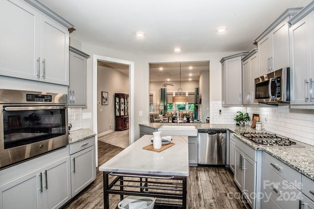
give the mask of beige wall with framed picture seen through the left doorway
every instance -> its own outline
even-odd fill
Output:
[[[98,66],[97,76],[97,128],[98,135],[115,130],[115,93],[129,93],[129,76],[118,70]],[[108,92],[108,105],[102,105],[101,93]],[[110,128],[111,127],[111,128]]]

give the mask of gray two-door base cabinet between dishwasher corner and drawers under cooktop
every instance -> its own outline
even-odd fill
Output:
[[[257,151],[235,138],[234,180],[252,209],[260,205],[259,198],[253,194],[260,191],[259,179],[262,151]]]

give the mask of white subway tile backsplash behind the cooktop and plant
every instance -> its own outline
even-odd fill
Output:
[[[260,114],[262,129],[284,137],[314,145],[314,110],[289,109],[280,107],[222,107],[221,101],[210,102],[212,124],[235,124],[237,111]],[[221,110],[221,115],[219,114]],[[247,125],[251,125],[247,122]]]

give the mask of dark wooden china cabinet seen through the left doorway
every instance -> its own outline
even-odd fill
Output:
[[[115,93],[116,131],[129,129],[129,94]]]

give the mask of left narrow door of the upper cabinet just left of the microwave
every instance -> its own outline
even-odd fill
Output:
[[[248,105],[250,101],[251,92],[251,68],[250,60],[243,62],[243,105]]]

